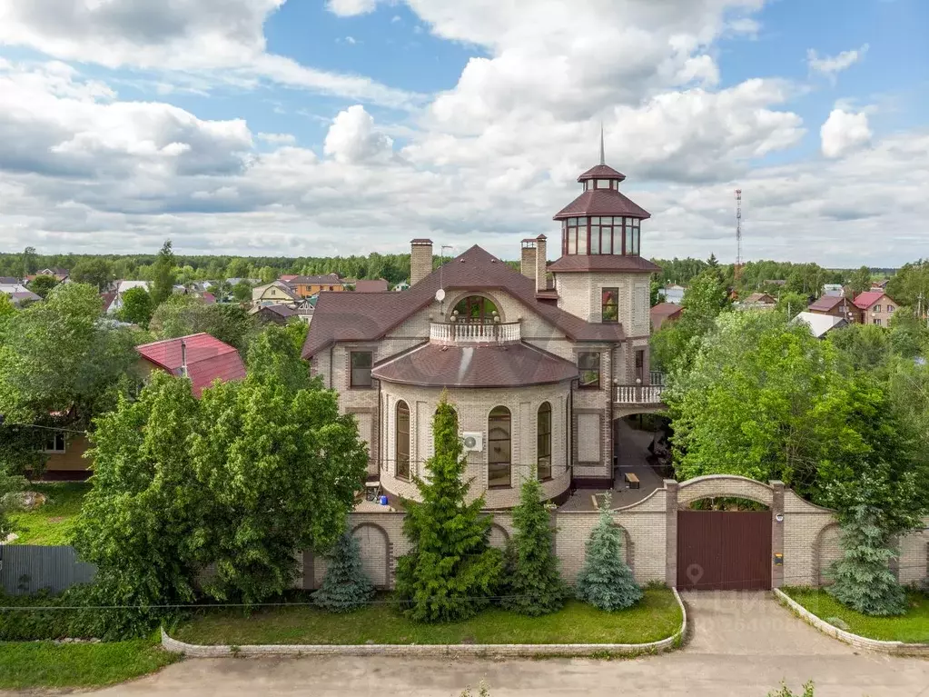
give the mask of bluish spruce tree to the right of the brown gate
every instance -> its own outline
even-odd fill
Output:
[[[862,614],[907,612],[906,591],[890,570],[896,554],[870,506],[855,506],[844,514],[842,547],[842,559],[831,567],[835,583],[826,589],[832,598]]]

